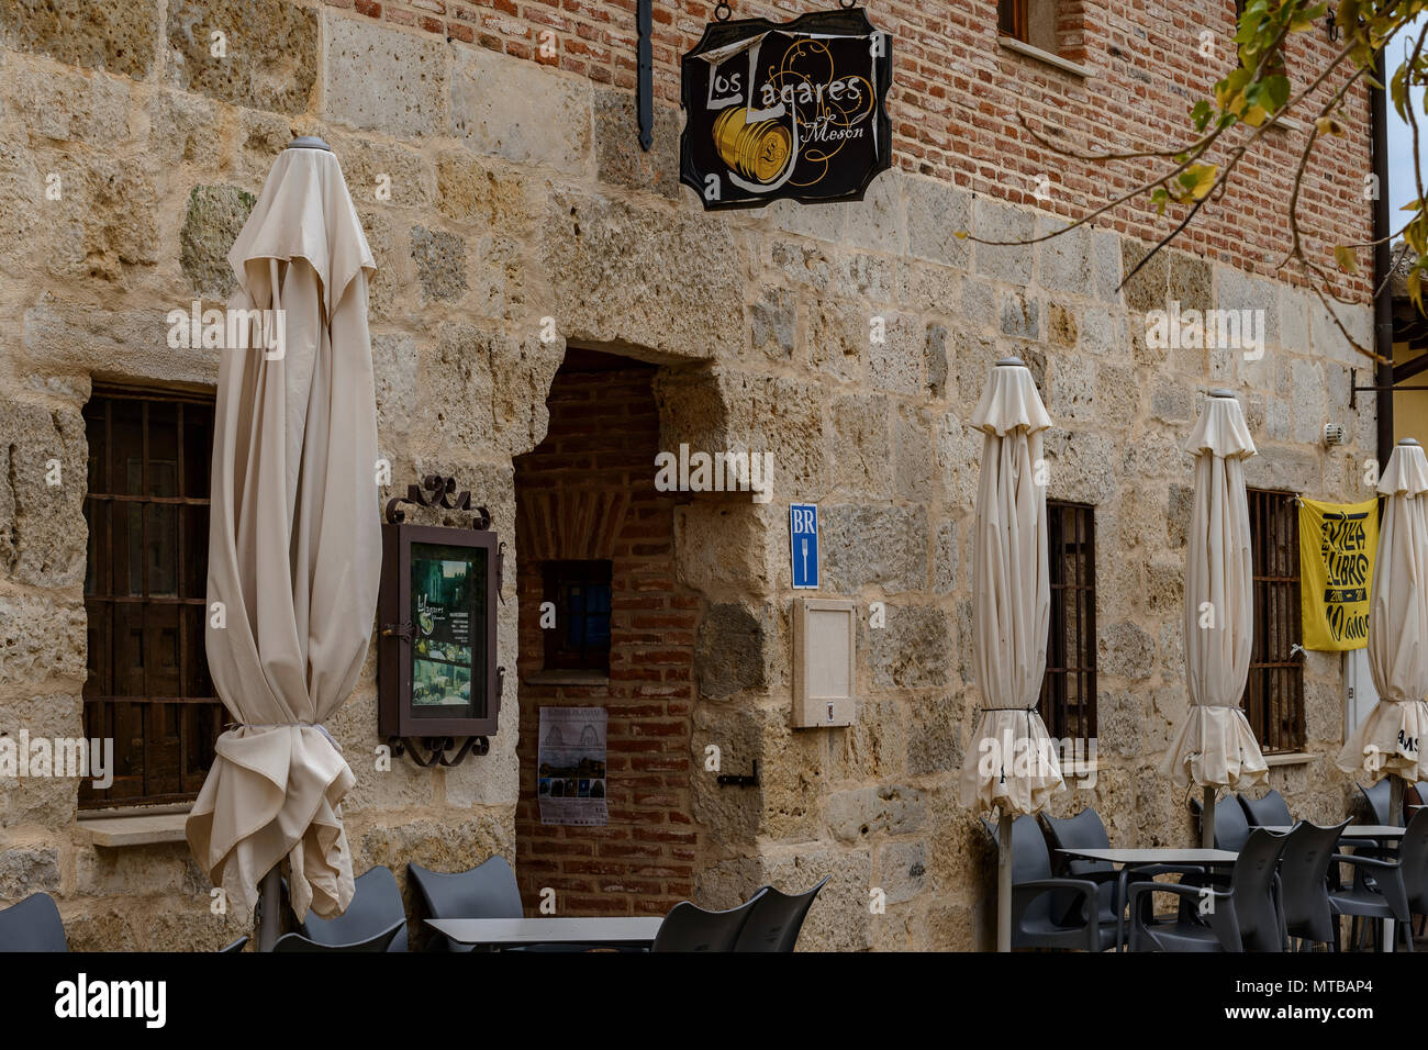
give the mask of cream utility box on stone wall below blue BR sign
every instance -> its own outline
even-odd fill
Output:
[[[794,726],[851,726],[857,719],[857,603],[794,599]]]

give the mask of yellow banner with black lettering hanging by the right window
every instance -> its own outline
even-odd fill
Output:
[[[1299,501],[1299,591],[1305,649],[1368,644],[1368,590],[1378,550],[1378,500]]]

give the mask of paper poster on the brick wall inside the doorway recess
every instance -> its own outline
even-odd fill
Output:
[[[541,707],[536,790],[543,824],[608,824],[604,707]]]

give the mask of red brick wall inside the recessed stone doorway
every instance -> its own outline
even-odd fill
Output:
[[[536,914],[661,914],[694,891],[690,717],[698,600],[674,580],[674,500],[654,489],[660,424],[653,369],[571,371],[550,393],[550,430],[516,460],[520,593],[520,803],[516,871]],[[541,561],[610,559],[608,686],[553,686],[540,671]],[[536,801],[543,706],[605,707],[608,827],[544,826]]]

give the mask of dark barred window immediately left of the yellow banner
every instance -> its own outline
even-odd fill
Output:
[[[1250,489],[1254,647],[1241,703],[1265,754],[1304,750],[1299,510],[1295,493]]]

